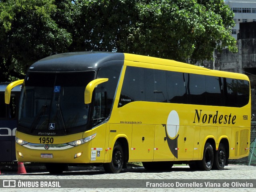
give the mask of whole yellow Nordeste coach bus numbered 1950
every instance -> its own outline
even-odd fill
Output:
[[[19,162],[50,173],[75,164],[127,162],[146,169],[188,164],[222,170],[249,154],[250,82],[246,75],[135,54],[73,52],[30,66],[16,131]]]

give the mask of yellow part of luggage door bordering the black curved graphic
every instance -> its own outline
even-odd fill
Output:
[[[168,146],[165,127],[163,125],[156,125],[155,130],[154,161],[173,161],[174,155]]]

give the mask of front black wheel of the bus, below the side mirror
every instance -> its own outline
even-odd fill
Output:
[[[119,142],[114,144],[112,160],[110,163],[104,163],[103,168],[107,173],[120,173],[124,166],[124,152]]]

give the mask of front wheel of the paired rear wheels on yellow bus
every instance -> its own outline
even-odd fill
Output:
[[[212,145],[210,143],[206,143],[204,146],[204,156],[203,159],[198,162],[198,167],[204,171],[210,171],[212,168],[214,160],[214,152],[212,149]]]

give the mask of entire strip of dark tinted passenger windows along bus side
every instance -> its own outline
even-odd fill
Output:
[[[242,107],[249,94],[246,80],[127,66],[118,107],[133,101]]]

